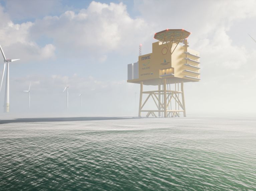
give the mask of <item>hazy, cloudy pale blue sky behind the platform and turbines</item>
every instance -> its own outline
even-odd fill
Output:
[[[10,63],[10,111],[65,113],[67,78],[69,113],[137,116],[140,85],[126,82],[127,64],[138,61],[139,44],[151,53],[154,34],[168,28],[191,32],[190,48],[201,56],[200,82],[184,84],[187,114],[254,115],[255,7],[255,0],[0,0],[0,45],[20,59]]]

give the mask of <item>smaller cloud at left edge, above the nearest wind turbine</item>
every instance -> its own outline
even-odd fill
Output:
[[[27,61],[37,61],[53,58],[55,55],[55,46],[47,44],[40,47],[33,41],[30,28],[34,25],[32,22],[14,24],[7,13],[0,7],[0,43],[7,58],[21,59],[19,63]]]

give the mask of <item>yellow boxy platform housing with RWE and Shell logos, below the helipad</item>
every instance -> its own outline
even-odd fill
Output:
[[[171,42],[168,43],[168,46],[162,42],[153,43],[152,53],[139,56],[139,78],[127,80],[127,82],[140,83],[146,80],[149,84],[151,83],[149,80],[153,80],[152,85],[157,85],[163,78],[167,78],[168,83],[200,80],[199,52],[187,48],[181,43],[177,47],[176,45],[172,45]],[[168,47],[172,51],[176,47],[172,55]],[[163,81],[161,80],[161,82]]]

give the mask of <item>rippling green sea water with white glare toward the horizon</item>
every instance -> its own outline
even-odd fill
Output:
[[[256,118],[0,125],[0,190],[256,190]]]

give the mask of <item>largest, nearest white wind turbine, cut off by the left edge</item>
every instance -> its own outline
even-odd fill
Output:
[[[5,55],[4,55],[4,51],[0,45],[0,49],[1,52],[3,54],[4,57],[4,69],[3,69],[3,76],[2,76],[2,81],[1,81],[1,86],[0,86],[0,91],[2,89],[2,84],[3,84],[3,79],[4,79],[4,71],[5,71],[5,65],[7,63],[7,70],[6,70],[6,84],[5,84],[5,95],[4,95],[4,112],[8,113],[9,112],[9,106],[10,106],[10,102],[9,102],[9,62],[13,62],[19,59],[6,59]]]

